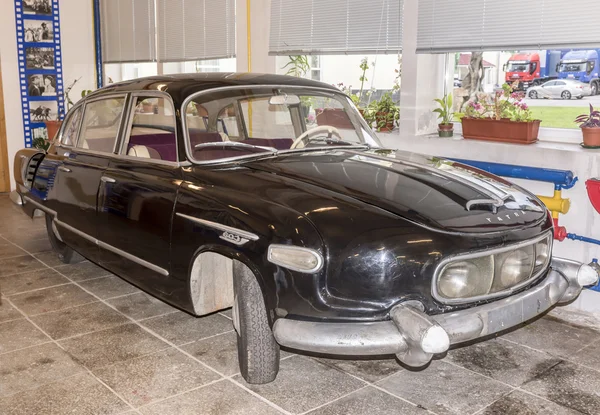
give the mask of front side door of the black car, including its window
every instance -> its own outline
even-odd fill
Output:
[[[131,102],[119,154],[98,192],[100,263],[160,296],[182,177],[175,112],[166,94],[134,93]]]

